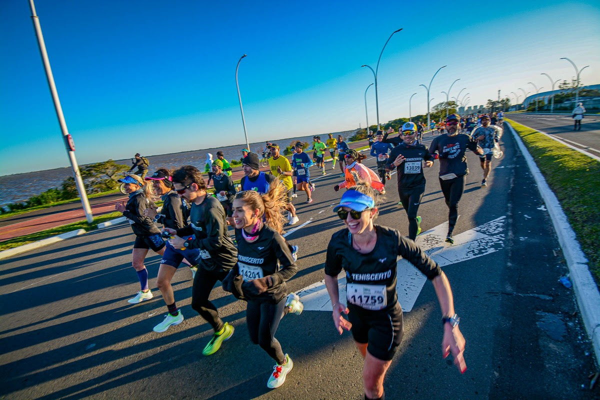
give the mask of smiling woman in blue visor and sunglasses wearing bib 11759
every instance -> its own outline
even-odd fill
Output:
[[[368,184],[360,183],[344,193],[334,212],[346,227],[331,236],[325,261],[325,285],[335,330],[340,335],[344,330],[352,332],[364,358],[365,399],[385,398],[383,380],[404,334],[396,292],[398,256],[412,263],[433,284],[442,309],[442,357],[452,353],[458,370],[464,373],[467,369],[465,341],[448,278],[412,240],[398,230],[374,223],[378,203],[377,194]],[[346,299],[340,299],[338,288],[342,270],[346,273]]]

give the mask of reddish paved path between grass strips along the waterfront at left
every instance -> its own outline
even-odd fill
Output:
[[[358,142],[349,143],[349,147],[351,149],[360,148],[365,145],[367,145],[367,140],[359,140]],[[313,151],[309,150],[308,154],[312,156]],[[329,153],[326,152],[325,155],[328,156]],[[289,156],[287,157],[289,158]],[[269,171],[268,167],[261,168],[260,170],[264,172]],[[232,172],[233,175],[231,178],[233,179],[233,181],[239,181],[239,179],[241,179],[242,176],[244,176],[244,170],[242,170],[241,166],[235,167]],[[79,200],[76,200],[74,201],[74,203],[77,203],[78,201]],[[92,205],[92,214],[94,216],[98,216],[113,212],[115,211],[115,204],[119,201],[127,201],[127,196],[123,195],[118,199],[113,199],[110,201]],[[78,222],[85,219],[85,213],[83,212],[83,209],[80,209],[79,207],[77,209],[71,209],[66,211],[57,210],[56,212],[52,211],[53,208],[55,207],[48,207],[47,209],[44,209],[44,216],[40,216],[37,218],[27,218],[26,213],[22,214],[23,218],[20,219],[25,219],[25,221],[15,222],[14,224],[8,224],[1,228],[0,242],[8,239],[14,239],[15,237],[19,236],[25,236],[27,234],[37,233],[46,229],[72,224],[73,222]]]

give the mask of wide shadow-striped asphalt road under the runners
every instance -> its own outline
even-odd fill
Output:
[[[420,236],[418,243],[445,265],[467,340],[467,371],[460,375],[441,357],[440,311],[431,284],[425,282],[422,290],[406,287],[402,298],[415,288],[418,297],[412,305],[403,300],[405,336],[385,381],[388,398],[600,395],[598,387],[581,389],[595,365],[572,290],[557,282],[567,267],[548,214],[511,135],[502,140],[505,158],[494,163],[487,188],[479,187],[478,160],[469,155],[471,173],[455,230],[465,234],[454,248],[431,247],[447,215],[437,166],[427,170],[420,212],[422,237],[431,240]],[[310,222],[287,236],[300,246],[299,272],[289,282],[294,291],[323,279],[326,245],[343,225],[331,212],[341,196],[332,190],[341,181],[338,170],[319,179],[313,171],[314,202],[302,203],[304,195],[296,199],[301,224]],[[397,201],[389,185],[377,221],[406,234],[406,215]],[[185,321],[167,332],[152,332],[166,307],[156,289],[149,302],[127,303],[139,287],[130,266],[131,246],[130,228],[118,225],[2,261],[0,395],[362,399],[361,357],[348,333],[334,332],[329,311],[307,310],[281,322],[277,338],[295,367],[276,390],[266,389],[273,362],[248,338],[244,303],[220,287],[212,299],[236,331],[214,356],[202,356],[211,331],[190,307],[191,274],[185,268],[173,280]],[[153,285],[160,258],[147,261]]]

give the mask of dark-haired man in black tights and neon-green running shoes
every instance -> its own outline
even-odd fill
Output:
[[[248,158],[248,157],[246,157]],[[173,173],[173,189],[191,204],[190,225],[178,230],[164,228],[173,235],[169,242],[176,249],[199,249],[200,264],[191,295],[191,307],[211,324],[214,334],[202,354],[214,354],[233,335],[233,326],[224,323],[217,307],[209,301],[212,288],[223,281],[238,260],[238,250],[227,234],[225,211],[219,201],[206,193],[202,173],[184,166]]]

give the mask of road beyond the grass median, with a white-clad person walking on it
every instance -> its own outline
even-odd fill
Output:
[[[570,115],[508,114],[508,118],[535,130],[559,137],[567,143],[600,156],[600,115],[586,115],[581,131],[573,130]]]

